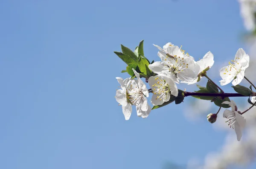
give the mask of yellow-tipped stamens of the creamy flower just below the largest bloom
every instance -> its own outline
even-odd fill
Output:
[[[162,100],[163,98],[167,99],[167,95],[168,92],[170,92],[169,89],[169,84],[166,83],[166,81],[164,79],[159,79],[158,77],[155,78],[156,83],[154,85],[152,85],[152,87],[155,87],[153,89],[153,94],[156,95],[158,94],[159,96],[157,96],[157,99]]]

